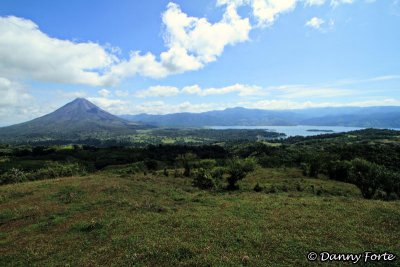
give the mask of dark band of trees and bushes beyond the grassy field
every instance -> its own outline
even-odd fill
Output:
[[[362,139],[360,134],[368,138]],[[365,198],[392,200],[400,197],[400,143],[393,141],[397,138],[395,134],[398,132],[366,130],[297,141],[280,140],[280,143],[242,141],[224,146],[3,145],[0,146],[0,183],[84,175],[125,166],[119,170],[121,173],[164,171],[170,175],[172,171],[177,176],[192,177],[197,186],[204,188],[218,187],[224,177],[230,179],[224,181],[232,189],[252,169],[250,166],[257,164],[263,168],[299,168],[305,176],[352,183]],[[394,139],[375,142],[388,137]],[[360,138],[359,142],[347,141]]]

